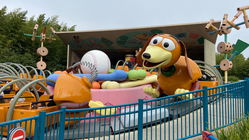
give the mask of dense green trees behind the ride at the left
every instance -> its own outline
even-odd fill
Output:
[[[3,7],[0,9],[0,62],[15,62],[36,67],[36,62],[40,60],[36,54],[40,40],[37,38],[31,41],[31,37],[24,36],[24,33],[32,34],[35,24],[39,25],[38,35],[46,26],[48,37],[52,35],[50,27],[56,31],[74,31],[75,28],[59,23],[58,16],[46,18],[45,14],[40,14],[37,18],[28,18],[27,11],[16,9],[7,12],[7,7]],[[65,69],[67,60],[66,46],[58,37],[55,38],[56,40],[46,41],[44,44],[49,54],[43,60],[47,63],[47,69],[51,71]]]

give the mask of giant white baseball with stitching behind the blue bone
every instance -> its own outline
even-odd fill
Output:
[[[90,63],[97,69],[97,73],[108,73],[111,68],[111,61],[109,57],[100,50],[91,50],[84,54],[81,58],[81,63]],[[89,65],[81,65],[83,73],[91,73]]]

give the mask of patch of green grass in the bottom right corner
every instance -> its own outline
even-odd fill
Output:
[[[249,118],[215,131],[219,140],[249,140]]]

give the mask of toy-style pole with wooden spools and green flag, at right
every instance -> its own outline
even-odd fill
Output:
[[[246,10],[249,9],[249,6],[243,6],[237,8],[237,13],[234,15],[232,20],[228,20],[228,14],[224,14],[223,20],[219,28],[215,27],[212,23],[214,19],[211,19],[206,25],[206,30],[210,31],[210,34],[218,33],[219,35],[224,35],[224,42],[220,42],[217,45],[217,51],[221,54],[225,54],[225,58],[220,62],[219,65],[215,65],[215,67],[220,67],[222,71],[224,71],[224,83],[228,83],[228,71],[232,69],[233,63],[232,60],[235,56],[242,53],[249,44],[238,39],[236,44],[232,45],[228,42],[227,36],[231,33],[232,28],[239,30],[241,25],[245,24],[246,28],[249,28],[249,19],[246,13]],[[235,24],[235,20],[237,20],[243,14],[243,22]],[[231,56],[228,58],[228,54]]]

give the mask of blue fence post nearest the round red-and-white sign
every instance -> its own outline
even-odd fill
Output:
[[[46,112],[40,111],[39,119],[38,119],[38,139],[44,140],[44,133],[45,133],[45,120],[46,120]]]

